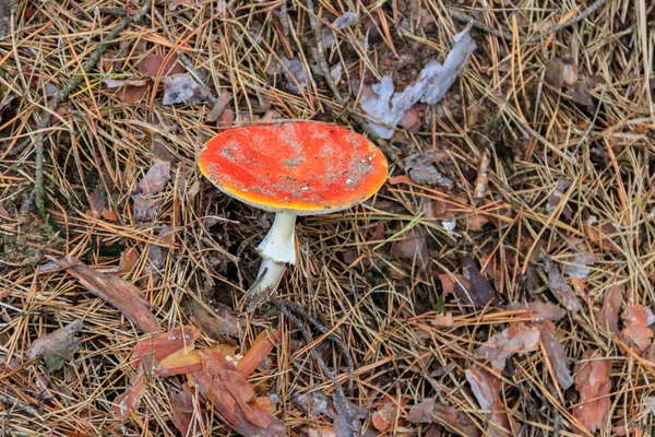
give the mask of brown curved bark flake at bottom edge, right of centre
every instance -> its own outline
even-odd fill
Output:
[[[480,429],[475,426],[471,417],[461,411],[437,402],[433,399],[427,399],[409,409],[407,421],[412,423],[434,423],[443,426],[451,433],[461,436],[479,437]]]

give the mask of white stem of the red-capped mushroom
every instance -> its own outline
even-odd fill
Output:
[[[258,248],[262,256],[262,264],[257,281],[248,292],[250,300],[257,300],[273,292],[287,263],[296,263],[296,215],[288,213],[275,214],[273,226]]]

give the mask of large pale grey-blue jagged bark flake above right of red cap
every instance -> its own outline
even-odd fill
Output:
[[[453,39],[455,44],[443,66],[436,59],[430,60],[421,70],[416,82],[403,92],[396,92],[393,80],[384,76],[380,83],[373,84],[371,95],[362,95],[360,99],[362,109],[390,127],[369,121],[371,129],[380,138],[393,137],[393,128],[401,122],[405,113],[414,104],[420,101],[428,105],[434,105],[450,90],[476,47],[473,38],[468,35],[468,29],[458,33]]]

